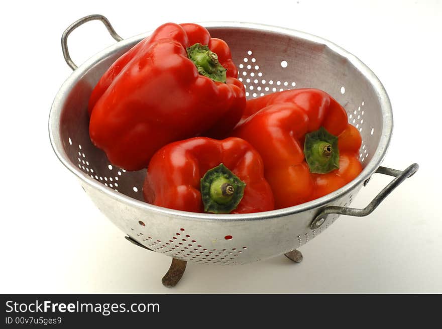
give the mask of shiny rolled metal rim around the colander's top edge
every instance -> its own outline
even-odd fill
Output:
[[[63,144],[61,142],[60,125],[59,125],[61,117],[61,109],[63,108],[62,105],[64,104],[67,96],[69,95],[69,91],[72,89],[72,86],[74,86],[76,82],[78,82],[78,80],[80,80],[81,77],[97,62],[102,60],[102,58],[114,54],[115,52],[119,51],[122,48],[128,47],[131,44],[135,44],[138,41],[141,41],[143,38],[147,37],[153,32],[149,31],[143,34],[139,34],[124,39],[120,42],[117,42],[112,46],[104,48],[103,50],[99,51],[98,53],[90,57],[84,63],[79,65],[78,68],[75,69],[70,74],[70,76],[61,85],[60,89],[58,90],[53,100],[49,114],[49,127],[48,127],[51,146],[56,156],[63,163],[63,165],[67,169],[69,169],[73,174],[75,174],[81,181],[94,187],[95,189],[104,193],[108,197],[111,197],[123,203],[128,203],[132,206],[141,208],[143,210],[155,212],[161,215],[186,218],[188,220],[196,220],[196,221],[239,222],[239,221],[266,220],[269,218],[283,217],[316,208],[319,211],[321,207],[329,204],[330,202],[333,202],[336,199],[339,199],[344,194],[348,193],[350,190],[355,189],[357,186],[362,184],[376,171],[376,169],[382,163],[382,160],[384,159],[386,151],[390,144],[391,134],[393,130],[393,115],[392,115],[391,103],[384,86],[382,85],[379,78],[374,74],[374,72],[367,65],[365,65],[359,58],[357,58],[352,53],[348,52],[344,48],[338,46],[337,44],[329,40],[326,40],[324,38],[306,32],[288,29],[284,27],[258,24],[258,23],[249,23],[249,22],[198,22],[198,24],[209,29],[242,28],[242,29],[258,30],[260,32],[286,34],[292,37],[302,38],[310,42],[322,44],[323,46],[328,47],[330,50],[334,51],[335,53],[338,53],[340,56],[345,57],[355,68],[357,68],[368,79],[373,89],[377,93],[381,104],[381,112],[383,116],[382,131],[381,131],[379,144],[376,148],[376,151],[374,152],[372,159],[367,163],[363,171],[354,180],[352,180],[350,183],[343,186],[342,188],[332,193],[329,193],[323,197],[299,205],[295,205],[292,207],[263,211],[263,212],[246,213],[246,214],[196,213],[196,212],[164,208],[134,199],[130,196],[117,192],[114,189],[99,183],[95,179],[91,178],[89,175],[79,170],[76,166],[74,166],[72,162],[69,160],[66,152],[64,151]]]

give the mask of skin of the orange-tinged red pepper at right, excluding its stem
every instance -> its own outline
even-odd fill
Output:
[[[294,89],[251,99],[246,115],[232,135],[247,140],[261,154],[276,208],[324,196],[362,171],[361,135],[348,123],[345,109],[324,91]],[[339,169],[312,173],[304,156],[305,139],[321,127],[338,137]]]

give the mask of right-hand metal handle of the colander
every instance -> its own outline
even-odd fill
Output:
[[[386,168],[386,167],[379,167],[375,173],[394,176],[396,178],[393,179],[387,186],[385,186],[384,189],[380,191],[379,194],[376,195],[374,199],[365,208],[356,209],[356,208],[348,208],[340,206],[325,207],[311,222],[310,229],[315,230],[319,228],[325,222],[325,218],[329,214],[350,215],[358,217],[370,214],[387,197],[388,194],[390,194],[396,187],[399,186],[399,184],[401,184],[408,177],[414,175],[417,169],[419,169],[419,165],[417,163],[413,163],[404,171]]]

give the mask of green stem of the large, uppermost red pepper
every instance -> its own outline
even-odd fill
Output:
[[[198,72],[213,81],[226,82],[226,71],[218,61],[218,55],[210,51],[208,46],[195,43],[187,50],[187,56],[198,68]]]

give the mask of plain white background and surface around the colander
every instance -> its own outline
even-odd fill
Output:
[[[442,292],[440,1],[152,3],[2,7],[0,293]],[[61,34],[90,14],[106,16],[123,38],[165,22],[246,21],[333,41],[367,64],[390,96],[394,133],[383,165],[417,162],[420,170],[371,215],[341,216],[301,247],[300,264],[284,256],[244,266],[188,264],[180,283],[165,288],[170,259],[128,243],[49,142],[49,109],[71,73]],[[114,42],[90,22],[72,33],[69,49],[80,64]],[[364,207],[390,179],[375,175],[352,205]]]

